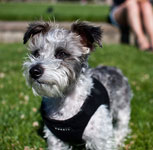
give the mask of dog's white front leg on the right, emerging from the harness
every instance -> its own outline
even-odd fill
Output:
[[[116,150],[112,118],[104,105],[100,106],[90,119],[83,139],[86,141],[86,149]]]

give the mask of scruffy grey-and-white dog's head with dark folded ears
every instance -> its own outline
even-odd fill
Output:
[[[95,43],[100,45],[101,30],[83,22],[74,23],[71,30],[32,23],[24,44],[28,40],[30,54],[23,65],[28,83],[38,95],[62,97],[73,89]]]

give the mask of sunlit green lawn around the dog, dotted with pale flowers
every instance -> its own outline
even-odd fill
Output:
[[[0,44],[0,150],[45,149],[40,97],[25,84],[21,44]],[[111,65],[128,77],[134,97],[131,104],[131,137],[128,150],[153,149],[153,54],[132,46],[104,45],[90,57],[90,65]],[[127,149],[126,149],[127,150]]]

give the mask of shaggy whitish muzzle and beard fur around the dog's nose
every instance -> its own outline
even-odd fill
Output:
[[[35,80],[29,75],[32,64],[29,62],[24,64],[24,75],[28,85],[32,86],[34,94],[46,97],[63,97],[76,80],[73,69],[70,66],[67,68],[63,65],[53,67],[53,64],[49,63],[41,65],[45,71],[39,79]]]

